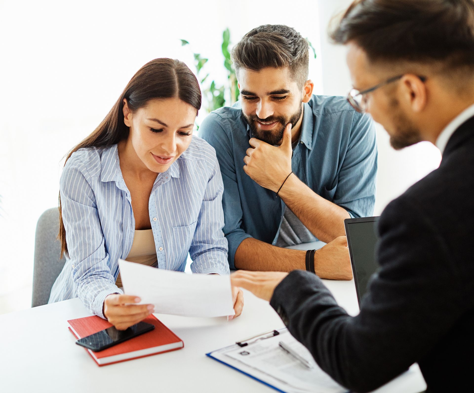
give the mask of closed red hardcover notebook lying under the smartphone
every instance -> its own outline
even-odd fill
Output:
[[[112,326],[105,319],[97,315],[72,319],[67,322],[70,325],[69,330],[77,339],[100,332]],[[99,366],[105,366],[107,364],[143,358],[145,356],[156,355],[184,347],[182,340],[164,326],[163,323],[158,321],[155,315],[146,317],[143,322],[155,325],[155,329],[99,352],[94,352],[87,348],[84,349],[89,352],[89,355],[91,355]]]

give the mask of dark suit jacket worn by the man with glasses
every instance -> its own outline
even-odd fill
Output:
[[[347,315],[305,271],[290,273],[270,304],[353,391],[415,362],[428,392],[474,391],[474,117],[451,136],[439,168],[386,207],[378,230],[380,269],[360,314]]]

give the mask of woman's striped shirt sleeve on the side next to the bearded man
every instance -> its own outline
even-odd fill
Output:
[[[219,163],[215,158],[189,250],[193,261],[191,263],[193,273],[230,273],[227,261],[228,244],[222,232],[224,227],[223,191]]]

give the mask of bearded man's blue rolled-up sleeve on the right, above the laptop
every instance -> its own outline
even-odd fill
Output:
[[[353,112],[349,145],[337,181],[334,203],[352,218],[374,212],[377,176],[377,140],[369,116]]]

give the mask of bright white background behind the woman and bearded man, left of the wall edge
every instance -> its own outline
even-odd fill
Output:
[[[57,206],[63,157],[132,75],[156,57],[194,70],[192,49],[209,57],[209,71],[224,83],[226,27],[236,43],[255,26],[286,24],[319,53],[317,3],[298,4],[304,19],[282,0],[0,1],[0,313],[30,306],[36,221]],[[311,61],[319,93],[320,67]]]

